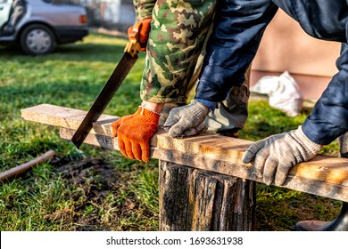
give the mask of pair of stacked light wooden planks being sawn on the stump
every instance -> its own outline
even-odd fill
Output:
[[[61,127],[61,137],[70,140],[87,111],[42,104],[21,110],[29,121]],[[111,137],[110,124],[118,116],[103,115],[95,122],[85,143],[118,149]],[[232,175],[262,182],[253,173],[252,164],[243,164],[242,157],[251,141],[205,133],[185,139],[172,139],[160,130],[151,141],[152,157],[197,169]],[[348,159],[317,156],[296,165],[288,174],[284,186],[322,197],[348,202]]]

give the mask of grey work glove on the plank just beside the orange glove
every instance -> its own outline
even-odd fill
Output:
[[[197,100],[191,100],[189,105],[173,108],[163,128],[170,137],[192,136],[206,131],[205,117],[211,110]]]

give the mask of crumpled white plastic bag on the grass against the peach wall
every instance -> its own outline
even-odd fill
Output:
[[[286,71],[280,76],[263,76],[250,88],[251,92],[267,94],[269,106],[278,108],[287,116],[297,116],[302,109],[302,92],[294,78]]]

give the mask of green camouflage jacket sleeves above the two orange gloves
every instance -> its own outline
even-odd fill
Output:
[[[134,1],[138,20],[153,18],[140,97],[157,103],[184,103],[216,1]]]

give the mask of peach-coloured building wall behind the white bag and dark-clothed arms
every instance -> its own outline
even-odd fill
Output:
[[[341,44],[308,36],[299,24],[279,10],[262,38],[253,60],[251,84],[266,75],[289,71],[304,98],[318,100],[337,72]]]

